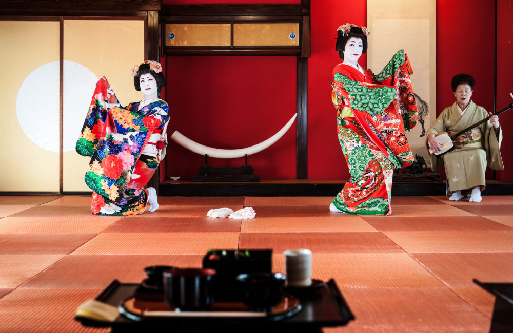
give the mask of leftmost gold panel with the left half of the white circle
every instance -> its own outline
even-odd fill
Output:
[[[0,191],[59,190],[59,23],[0,22]]]

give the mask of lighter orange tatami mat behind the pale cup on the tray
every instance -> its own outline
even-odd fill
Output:
[[[273,272],[285,274],[284,255],[275,253],[272,260]],[[407,253],[313,253],[312,278],[333,278],[339,287],[348,288],[445,286]]]

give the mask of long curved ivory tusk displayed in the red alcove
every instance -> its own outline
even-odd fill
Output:
[[[195,142],[179,131],[174,131],[173,135],[171,135],[171,139],[174,140],[176,143],[180,144],[182,147],[187,148],[188,150],[200,154],[200,155],[208,155],[208,157],[215,157],[215,158],[238,158],[238,157],[244,157],[244,155],[253,155],[258,152],[263,151],[264,149],[270,147],[272,144],[274,144],[276,141],[278,141],[292,126],[292,123],[294,122],[295,118],[298,116],[298,114],[294,114],[292,118],[285,124],[285,126],[278,131],[276,134],[271,136],[265,141],[262,141],[260,143],[257,143],[255,145],[252,145],[251,147],[241,148],[241,149],[218,149],[218,148],[212,148],[207,147],[206,145],[203,145],[201,143]]]

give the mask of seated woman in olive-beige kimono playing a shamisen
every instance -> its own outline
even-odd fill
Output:
[[[426,132],[427,142],[432,152],[441,150],[435,139],[437,134],[447,132],[452,135],[492,114],[470,99],[475,84],[474,78],[468,74],[458,74],[452,78],[451,87],[456,101],[442,111]],[[449,200],[458,201],[462,198],[462,190],[471,190],[469,201],[481,201],[481,191],[486,185],[486,165],[494,170],[504,169],[500,150],[501,141],[502,130],[499,117],[492,115],[480,126],[458,136],[454,140],[456,149],[452,152],[442,157],[435,154],[429,156],[433,171],[439,170],[445,164],[447,183],[452,192]]]

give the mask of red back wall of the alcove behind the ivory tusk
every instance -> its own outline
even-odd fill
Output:
[[[278,132],[296,112],[296,57],[169,56],[168,134],[178,130],[221,149],[249,147]],[[248,157],[264,179],[294,179],[295,123],[268,149]],[[190,179],[205,157],[170,140],[168,176]],[[209,165],[241,166],[238,159],[210,158]]]

